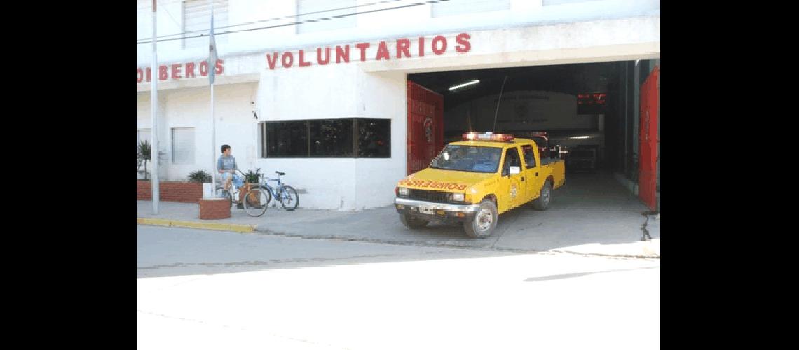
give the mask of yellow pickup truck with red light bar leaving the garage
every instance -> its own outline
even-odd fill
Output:
[[[547,210],[566,183],[562,159],[539,155],[534,140],[468,132],[443,148],[430,166],[400,180],[394,205],[409,229],[428,222],[462,222],[470,238],[487,238],[499,214],[527,203]]]

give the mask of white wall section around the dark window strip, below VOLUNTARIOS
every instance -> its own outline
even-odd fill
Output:
[[[304,82],[297,84],[298,81]],[[390,158],[260,158],[256,167],[300,194],[300,206],[362,210],[392,202],[405,176],[405,81],[403,73],[364,73],[355,65],[266,71],[258,95],[260,120],[390,119]]]

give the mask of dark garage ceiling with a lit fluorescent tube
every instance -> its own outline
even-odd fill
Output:
[[[459,70],[408,75],[409,81],[444,96],[444,109],[499,94],[507,76],[504,92],[552,91],[576,95],[585,92],[608,92],[617,77],[618,62],[580,63],[571,65],[534,65],[526,67]],[[479,84],[449,91],[453,85],[479,80]]]

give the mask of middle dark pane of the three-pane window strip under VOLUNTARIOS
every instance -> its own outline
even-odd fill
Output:
[[[308,120],[312,157],[351,157],[352,119]]]

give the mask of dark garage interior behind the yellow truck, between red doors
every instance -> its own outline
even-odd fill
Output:
[[[517,137],[546,132],[550,145],[559,145],[553,155],[566,159],[570,175],[614,175],[635,192],[640,92],[656,65],[660,60],[538,65],[409,74],[407,79],[443,96],[445,144],[470,131]],[[570,163],[570,156],[594,160]],[[659,195],[659,141],[657,172]]]

